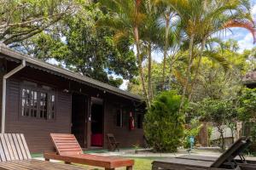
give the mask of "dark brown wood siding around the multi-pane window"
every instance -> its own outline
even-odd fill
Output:
[[[56,92],[55,121],[20,116],[20,82],[7,82],[6,133],[24,133],[32,153],[53,150],[49,133],[70,133],[71,95]]]

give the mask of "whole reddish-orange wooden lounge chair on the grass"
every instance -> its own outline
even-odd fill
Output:
[[[54,159],[66,163],[104,167],[105,170],[113,170],[116,167],[126,167],[127,170],[131,170],[134,165],[134,161],[130,159],[84,154],[73,134],[51,133],[50,137],[55,144],[57,153],[44,153],[45,161]]]

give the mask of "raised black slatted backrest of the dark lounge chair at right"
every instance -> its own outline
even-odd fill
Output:
[[[229,160],[234,160],[236,156],[241,155],[242,152],[246,150],[251,143],[251,139],[248,139],[246,137],[241,137],[240,139],[237,139],[236,142],[232,144],[228,150],[224,151],[224,153],[212,163],[211,167],[221,167],[225,162],[228,162]]]

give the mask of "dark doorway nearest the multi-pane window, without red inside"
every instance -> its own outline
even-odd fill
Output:
[[[72,101],[72,133],[78,139],[81,147],[85,148],[88,100],[85,95],[73,94]]]

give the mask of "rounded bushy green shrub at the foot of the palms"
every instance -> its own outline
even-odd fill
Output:
[[[181,96],[175,91],[159,94],[144,119],[144,133],[156,151],[175,152],[182,144],[184,115],[179,110]]]

